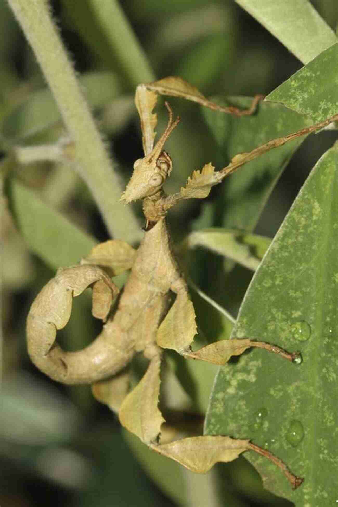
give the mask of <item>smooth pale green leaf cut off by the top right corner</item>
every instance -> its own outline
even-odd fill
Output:
[[[236,0],[303,63],[337,39],[308,0]]]

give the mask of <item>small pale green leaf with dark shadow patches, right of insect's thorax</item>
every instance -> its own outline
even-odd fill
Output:
[[[186,238],[186,242],[191,248],[204,246],[255,271],[271,239],[233,229],[210,227],[192,232]]]

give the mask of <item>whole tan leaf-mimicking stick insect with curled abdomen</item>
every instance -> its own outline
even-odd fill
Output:
[[[187,437],[161,444],[159,435],[164,422],[158,408],[160,366],[166,349],[183,357],[224,365],[234,355],[251,347],[264,348],[290,361],[299,362],[297,352],[289,353],[275,345],[249,338],[221,340],[197,351],[191,349],[196,334],[195,311],[186,281],[171,248],[166,214],[182,199],[207,197],[211,188],[250,160],[298,136],[314,132],[338,115],[312,127],[273,139],[251,152],[236,155],[227,167],[215,171],[211,163],[194,171],[185,187],[166,195],[163,184],[172,171],[172,161],[164,150],[165,142],[179,123],[165,103],[169,120],[155,143],[158,94],[183,97],[206,107],[238,116],[254,112],[257,96],[247,111],[221,107],[207,100],[196,88],[180,78],[166,78],[139,85],[135,103],[140,116],[144,157],[136,160],[131,179],[122,195],[125,203],[142,200],[145,233],[137,250],[120,240],[108,240],[95,246],[78,266],[61,269],[42,289],[27,317],[28,352],[33,363],[52,379],[66,384],[90,383],[94,396],[117,411],[122,425],[136,434],[156,452],[178,461],[197,473],[207,472],[218,461],[232,461],[251,450],[266,456],[285,474],[295,489],[303,479],[266,449],[248,439],[230,436]],[[111,305],[119,293],[111,280],[131,269],[115,312]],[[92,288],[92,313],[104,321],[98,337],[85,349],[62,350],[56,332],[69,320],[72,298]],[[170,292],[176,295],[169,309]],[[140,382],[129,390],[126,367],[137,352],[149,364]]]

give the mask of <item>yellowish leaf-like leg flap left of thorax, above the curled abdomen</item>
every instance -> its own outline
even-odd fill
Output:
[[[125,241],[109,239],[91,249],[81,264],[96,264],[116,276],[133,265],[136,250]]]

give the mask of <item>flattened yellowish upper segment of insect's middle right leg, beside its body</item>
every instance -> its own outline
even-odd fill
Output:
[[[157,331],[156,342],[162,348],[181,352],[192,343],[196,329],[193,303],[186,291],[180,291]]]

